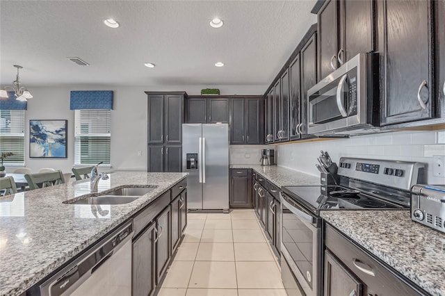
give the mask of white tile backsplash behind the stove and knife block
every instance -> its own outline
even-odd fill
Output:
[[[445,156],[445,131],[398,131],[341,140],[277,145],[278,165],[319,176],[315,164],[318,163],[316,158],[320,150],[328,151],[332,161],[337,164],[340,156],[426,163],[428,183],[445,184],[445,178],[432,176],[432,156]]]

